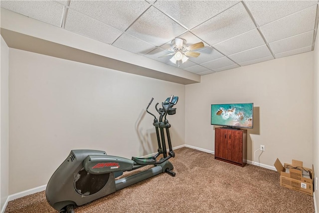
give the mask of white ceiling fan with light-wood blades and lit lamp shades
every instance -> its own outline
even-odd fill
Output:
[[[169,60],[176,64],[178,61],[178,67],[179,67],[179,61],[181,60],[182,63],[188,60],[188,57],[198,57],[200,55],[199,52],[191,52],[192,50],[195,49],[200,49],[204,47],[203,42],[198,42],[191,44],[189,46],[186,46],[186,40],[182,38],[175,38],[174,40],[171,41],[171,47],[169,51],[173,51],[171,53],[168,53],[166,55],[160,56],[161,57],[166,57],[168,55],[173,55]]]

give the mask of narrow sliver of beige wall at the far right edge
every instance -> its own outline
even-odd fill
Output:
[[[316,37],[314,49],[314,142],[313,161],[315,170],[315,198],[317,211],[319,211],[319,193],[316,189],[316,178],[319,177],[319,32]],[[317,183],[318,184],[318,183]]]

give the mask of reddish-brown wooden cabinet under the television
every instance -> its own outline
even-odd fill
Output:
[[[215,159],[238,166],[247,162],[247,130],[215,128]]]

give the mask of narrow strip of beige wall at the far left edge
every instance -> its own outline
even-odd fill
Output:
[[[0,210],[2,210],[9,193],[9,124],[8,124],[8,56],[9,48],[1,36],[1,69],[0,69]]]

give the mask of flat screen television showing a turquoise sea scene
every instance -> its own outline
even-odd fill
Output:
[[[212,104],[211,125],[227,128],[253,128],[254,103]]]

